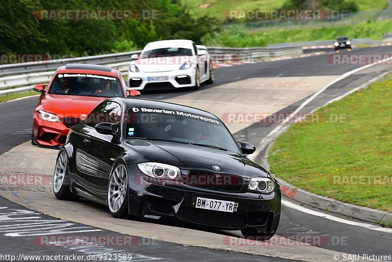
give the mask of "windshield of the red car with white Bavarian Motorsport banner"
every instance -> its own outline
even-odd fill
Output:
[[[58,74],[49,94],[98,97],[124,97],[120,80],[93,74]]]

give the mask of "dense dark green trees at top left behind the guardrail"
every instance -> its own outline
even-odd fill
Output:
[[[38,10],[158,10],[158,19],[37,20]],[[218,23],[192,18],[179,0],[1,0],[0,53],[92,55],[143,48],[150,41],[192,39]]]

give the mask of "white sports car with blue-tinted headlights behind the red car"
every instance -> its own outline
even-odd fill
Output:
[[[205,46],[191,40],[164,40],[148,43],[128,69],[129,87],[136,90],[179,87],[199,88],[213,83],[214,69]]]

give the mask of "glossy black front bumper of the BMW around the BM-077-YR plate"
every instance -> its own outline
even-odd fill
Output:
[[[281,194],[279,186],[269,195],[233,193],[198,188],[178,183],[164,185],[151,180],[128,165],[129,214],[149,218],[172,217],[182,221],[224,230],[255,228],[261,233],[274,232],[279,218]],[[135,175],[136,174],[136,175]],[[238,203],[233,212],[196,208],[197,197]]]

